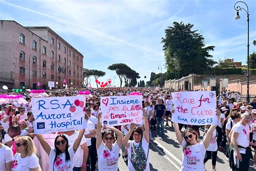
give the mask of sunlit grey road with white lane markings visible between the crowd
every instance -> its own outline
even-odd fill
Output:
[[[170,126],[165,126],[165,138],[157,137],[156,133],[157,131],[152,130],[152,137],[154,137],[155,140],[150,144],[150,170],[180,170],[183,152],[176,139],[174,129]],[[203,136],[203,131],[200,131],[200,135]],[[201,136],[200,139],[203,138]],[[127,170],[126,163],[123,161],[122,156],[119,158],[118,165],[119,170]],[[253,160],[250,161],[250,171],[254,170],[252,166]],[[206,162],[205,168],[206,170],[211,170],[211,160]],[[225,151],[218,151],[216,169],[228,170],[228,161],[225,159]]]

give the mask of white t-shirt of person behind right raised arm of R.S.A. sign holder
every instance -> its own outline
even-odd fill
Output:
[[[79,131],[75,131],[75,133],[73,133],[71,136],[68,136],[67,134],[65,134],[66,138],[68,138],[69,140],[69,147],[73,146],[73,144],[75,143],[78,137],[78,134],[79,134]],[[83,145],[84,143],[86,143],[86,139],[83,136],[80,145]],[[72,168],[82,167],[83,156],[84,156],[84,150],[82,149],[81,146],[79,146],[73,158]]]

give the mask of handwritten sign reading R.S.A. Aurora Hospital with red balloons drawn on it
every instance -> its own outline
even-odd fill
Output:
[[[85,97],[32,98],[35,133],[45,134],[86,128]]]

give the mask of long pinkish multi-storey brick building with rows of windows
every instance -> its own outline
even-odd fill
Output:
[[[0,88],[82,87],[84,56],[49,27],[0,20],[0,52]]]

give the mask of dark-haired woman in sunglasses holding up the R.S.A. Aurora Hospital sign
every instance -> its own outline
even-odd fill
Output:
[[[84,136],[84,131],[85,129],[79,131],[78,137],[71,147],[69,147],[69,141],[63,134],[59,134],[55,138],[55,148],[51,147],[47,141],[45,141],[42,134],[36,134],[36,137],[44,148],[44,151],[49,155],[51,171],[72,171],[72,160],[80,145],[82,137]]]

